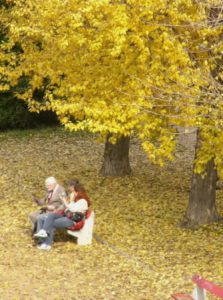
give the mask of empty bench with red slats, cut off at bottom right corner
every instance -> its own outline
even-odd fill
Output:
[[[172,299],[175,300],[205,300],[206,293],[210,293],[219,299],[223,299],[223,288],[208,281],[198,275],[192,277],[192,282],[196,284],[191,295],[183,293],[175,293],[172,295]]]

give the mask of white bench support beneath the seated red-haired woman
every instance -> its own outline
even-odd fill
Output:
[[[90,245],[93,237],[95,213],[90,211],[85,219],[84,226],[80,230],[67,230],[67,233],[77,238],[78,245]]]

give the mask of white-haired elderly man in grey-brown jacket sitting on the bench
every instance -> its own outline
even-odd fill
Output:
[[[37,220],[44,221],[48,212],[54,212],[57,209],[63,208],[61,196],[64,197],[66,193],[64,188],[57,183],[56,178],[48,177],[45,180],[45,186],[47,189],[47,193],[43,199],[38,199],[33,195],[34,202],[38,206],[41,206],[40,210],[35,211],[29,215],[29,219],[32,223],[33,233],[35,233],[36,230],[38,231],[38,228],[36,227]]]

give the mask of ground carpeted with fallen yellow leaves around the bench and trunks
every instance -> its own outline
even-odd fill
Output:
[[[179,228],[188,199],[192,143],[176,161],[152,166],[138,142],[131,145],[132,175],[98,176],[103,145],[61,129],[1,133],[0,299],[170,299],[190,292],[197,273],[223,286],[223,224]],[[44,179],[78,177],[96,212],[95,238],[77,246],[66,233],[49,252],[31,239],[31,193]],[[223,214],[223,193],[218,207]]]

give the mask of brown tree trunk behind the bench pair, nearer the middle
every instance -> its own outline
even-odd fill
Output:
[[[102,176],[125,176],[131,173],[129,163],[129,137],[122,136],[111,144],[108,135],[105,143],[104,161],[100,174]]]

